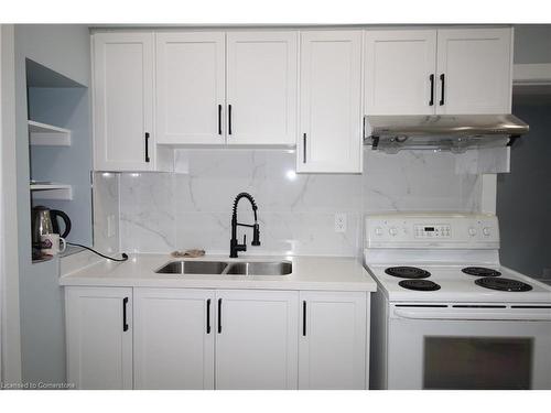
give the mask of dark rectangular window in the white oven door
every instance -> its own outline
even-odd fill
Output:
[[[532,338],[425,337],[424,389],[530,389]]]

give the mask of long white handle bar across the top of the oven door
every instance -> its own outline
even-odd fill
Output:
[[[538,309],[538,311],[537,311]],[[504,319],[551,322],[549,308],[393,308],[395,318],[410,319]]]

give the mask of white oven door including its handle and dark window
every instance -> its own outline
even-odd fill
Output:
[[[391,305],[388,389],[551,389],[551,307]]]

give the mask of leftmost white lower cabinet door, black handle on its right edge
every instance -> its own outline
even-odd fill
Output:
[[[132,389],[132,289],[66,287],[67,380]]]

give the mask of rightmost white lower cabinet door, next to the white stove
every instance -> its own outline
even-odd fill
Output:
[[[366,389],[366,293],[301,292],[300,389]]]

